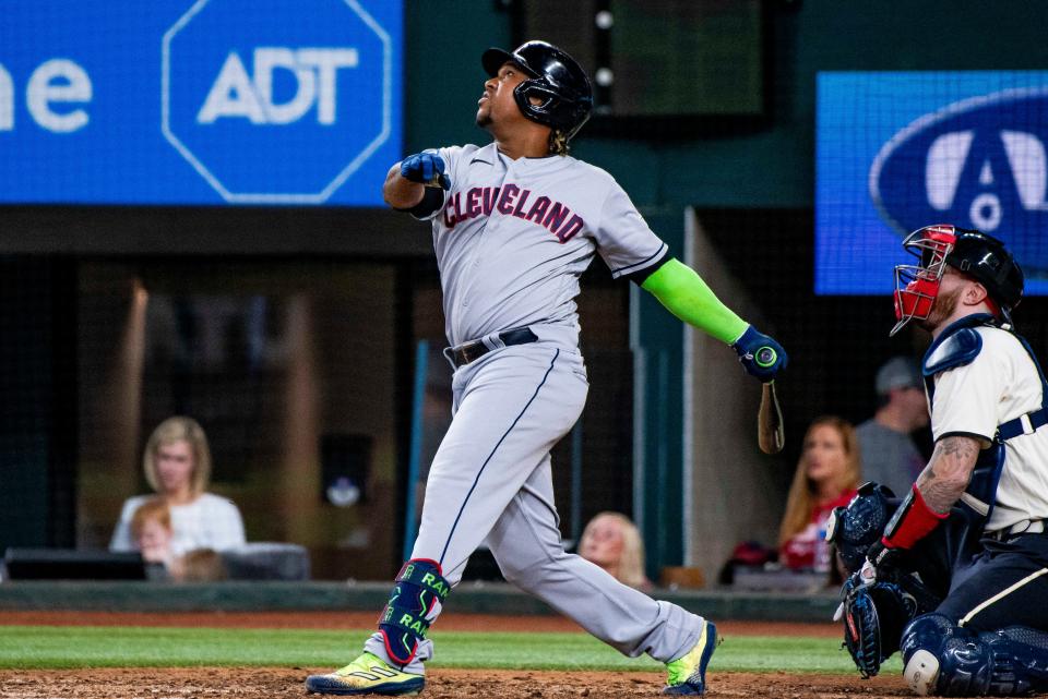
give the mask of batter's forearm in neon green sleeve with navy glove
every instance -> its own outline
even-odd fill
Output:
[[[730,345],[751,376],[769,382],[786,367],[788,358],[783,346],[736,315],[694,269],[680,261],[667,261],[641,288],[684,323]]]

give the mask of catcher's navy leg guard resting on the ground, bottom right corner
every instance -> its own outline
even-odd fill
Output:
[[[903,676],[918,695],[1015,697],[1048,690],[1048,634],[1010,626],[981,634],[941,614],[903,634]]]

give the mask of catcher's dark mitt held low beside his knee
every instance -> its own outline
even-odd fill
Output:
[[[845,580],[841,596],[844,646],[859,673],[872,677],[898,650],[903,628],[917,615],[917,601],[896,582],[864,582],[858,573]]]

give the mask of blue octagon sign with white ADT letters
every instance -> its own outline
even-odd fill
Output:
[[[198,0],[164,35],[162,131],[233,204],[322,204],[392,132],[390,36],[356,0]]]

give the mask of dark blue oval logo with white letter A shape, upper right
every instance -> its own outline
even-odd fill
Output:
[[[902,233],[934,222],[1004,240],[1048,273],[1048,87],[967,99],[914,121],[870,169],[870,195]]]

